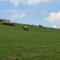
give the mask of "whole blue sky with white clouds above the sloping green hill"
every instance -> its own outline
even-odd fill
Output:
[[[60,0],[0,0],[0,18],[60,28]]]

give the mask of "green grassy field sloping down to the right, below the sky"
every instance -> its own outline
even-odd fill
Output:
[[[60,60],[60,30],[0,25],[0,60]]]

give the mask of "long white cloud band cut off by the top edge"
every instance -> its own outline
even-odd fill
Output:
[[[10,2],[17,7],[19,4],[28,4],[28,5],[34,5],[42,2],[48,2],[49,0],[10,0]]]

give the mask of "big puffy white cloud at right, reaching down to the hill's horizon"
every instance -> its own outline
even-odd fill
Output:
[[[45,20],[54,24],[52,27],[60,26],[60,12],[51,12]]]

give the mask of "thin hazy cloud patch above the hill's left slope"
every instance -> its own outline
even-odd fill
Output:
[[[19,10],[7,10],[3,12],[7,19],[12,22],[18,22],[27,17],[27,12],[21,12]]]

